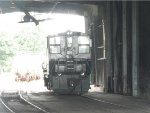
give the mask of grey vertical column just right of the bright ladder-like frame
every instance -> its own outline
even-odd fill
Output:
[[[112,76],[112,34],[110,22],[110,2],[106,2],[104,8],[104,29],[106,37],[106,75],[104,76],[104,91],[111,92],[111,76]]]

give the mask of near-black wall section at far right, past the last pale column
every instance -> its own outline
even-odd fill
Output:
[[[141,95],[150,97],[150,2],[140,2],[140,90]]]

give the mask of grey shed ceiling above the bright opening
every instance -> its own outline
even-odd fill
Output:
[[[28,12],[74,12],[81,13],[86,10],[85,4],[92,3],[88,1],[0,1],[0,13],[10,13],[16,11]]]

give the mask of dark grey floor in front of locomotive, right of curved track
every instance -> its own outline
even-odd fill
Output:
[[[149,101],[120,95],[88,93],[82,97],[32,92],[28,96],[24,95],[52,113],[150,113]]]

